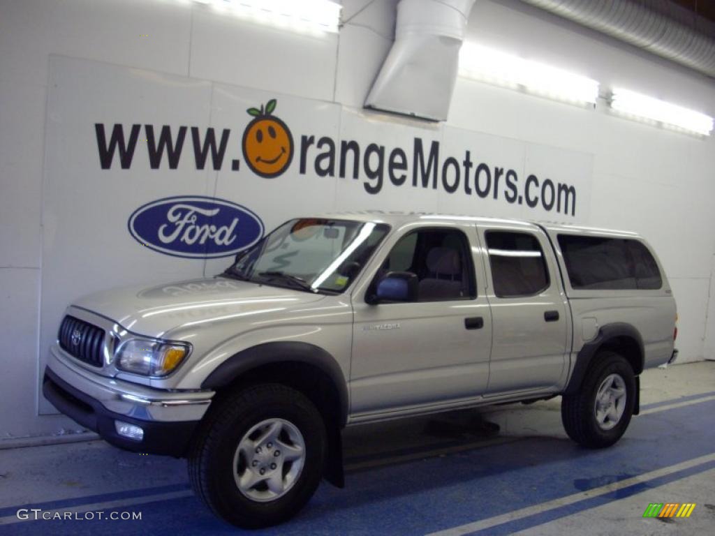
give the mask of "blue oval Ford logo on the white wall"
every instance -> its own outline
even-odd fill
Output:
[[[229,257],[263,236],[263,222],[249,209],[205,196],[157,199],[135,210],[127,224],[139,244],[190,259]]]

